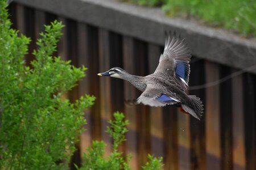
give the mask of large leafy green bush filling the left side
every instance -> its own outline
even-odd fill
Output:
[[[63,27],[59,22],[40,33],[35,59],[26,66],[30,39],[10,28],[5,7],[0,1],[0,169],[63,169],[94,97],[71,104],[62,96],[85,76],[85,68],[52,56]]]

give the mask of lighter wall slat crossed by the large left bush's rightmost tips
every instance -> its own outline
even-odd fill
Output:
[[[88,56],[88,36],[87,36],[87,26],[83,23],[78,23],[77,24],[77,37],[78,37],[78,59],[79,59],[79,66],[85,66],[87,67],[88,65],[88,61],[87,59],[89,58]],[[86,70],[86,74],[87,74],[87,70]],[[89,79],[88,76],[86,75],[85,78],[83,78],[80,82],[79,82],[79,94],[80,96],[83,96],[85,94],[89,94]],[[81,148],[81,155],[83,152],[86,152],[86,148],[88,146],[90,146],[90,143],[92,141],[91,135],[90,135],[90,131],[92,128],[91,124],[90,124],[90,109],[86,109],[85,111],[85,119],[87,124],[84,126],[84,128],[86,129],[85,131],[82,132],[81,136],[80,136],[80,148]]]

